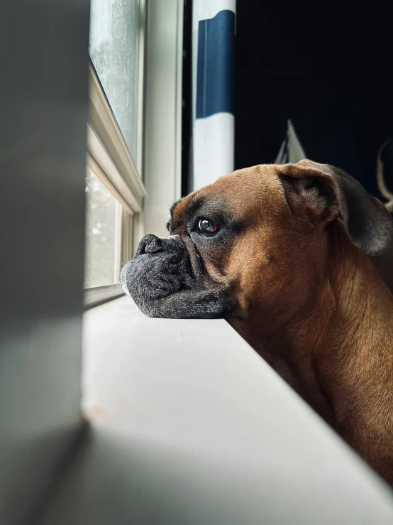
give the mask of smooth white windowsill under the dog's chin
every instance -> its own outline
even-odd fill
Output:
[[[224,320],[84,314],[92,436],[43,525],[390,524],[384,484]]]

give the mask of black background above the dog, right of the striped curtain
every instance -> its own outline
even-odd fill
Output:
[[[381,5],[237,2],[236,169],[274,162],[290,118],[308,158],[380,197],[377,151],[393,135],[393,9]]]

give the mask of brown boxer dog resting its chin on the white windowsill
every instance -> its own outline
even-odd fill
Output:
[[[121,274],[146,315],[218,318],[393,484],[393,295],[368,255],[392,245],[382,203],[333,166],[219,178],[171,209]]]

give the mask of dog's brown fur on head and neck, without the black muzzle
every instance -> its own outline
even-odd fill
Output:
[[[281,168],[226,175],[220,195],[244,228],[200,249],[238,311],[228,322],[387,482],[393,484],[393,296],[348,238],[335,202],[288,197]],[[183,210],[173,210],[184,234]]]

